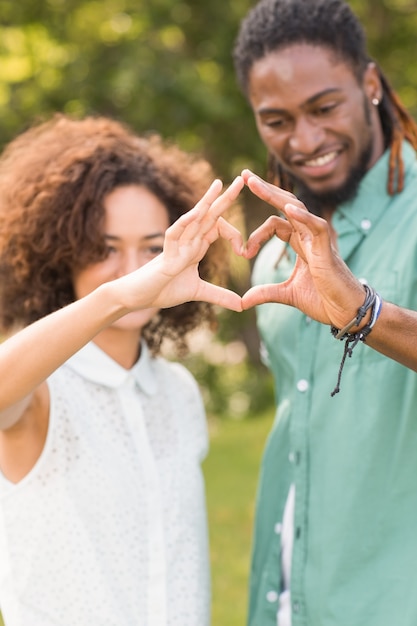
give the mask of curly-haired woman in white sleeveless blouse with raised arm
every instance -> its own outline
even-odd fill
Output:
[[[56,116],[0,160],[7,626],[209,624],[204,410],[157,355],[212,319],[202,301],[241,310],[204,279],[219,234],[239,250],[220,215],[243,181],[211,178],[104,118]]]

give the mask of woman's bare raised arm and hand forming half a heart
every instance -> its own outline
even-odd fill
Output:
[[[220,195],[214,181],[201,201],[166,232],[163,252],[140,269],[105,283],[86,297],[51,313],[0,345],[0,429],[22,415],[33,391],[101,330],[130,311],[205,300],[242,309],[237,294],[201,280],[198,263],[219,236],[241,249],[237,230],[221,214],[242,189],[238,177]],[[14,407],[14,408],[13,408]]]

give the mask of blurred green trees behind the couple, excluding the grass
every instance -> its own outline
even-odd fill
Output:
[[[239,22],[254,4],[1,0],[0,148],[54,111],[103,114],[204,153],[225,181],[243,166],[264,174],[265,150],[231,57]],[[416,0],[352,0],[351,5],[365,24],[371,55],[417,113]],[[247,193],[243,206],[249,232],[269,210]],[[248,283],[248,265],[236,263],[232,286],[243,292]],[[226,312],[221,319],[220,337],[239,337],[256,363],[254,313]],[[219,392],[219,379],[206,374]],[[227,406],[221,400],[214,405]]]

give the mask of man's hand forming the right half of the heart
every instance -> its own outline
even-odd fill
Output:
[[[275,235],[297,253],[290,278],[280,284],[253,287],[242,298],[243,308],[281,302],[319,322],[343,328],[363,304],[364,290],[333,247],[328,223],[309,213],[293,194],[266,183],[249,170],[244,170],[242,176],[255,195],[285,216],[271,216],[254,231],[244,256],[255,256],[261,245]]]

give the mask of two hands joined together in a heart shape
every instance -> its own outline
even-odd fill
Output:
[[[222,217],[244,185],[282,215],[271,215],[246,244],[241,233]],[[309,213],[293,194],[249,170],[244,170],[222,194],[221,188],[221,182],[214,181],[194,209],[168,229],[162,259],[155,259],[155,263],[162,263],[158,271],[169,277],[169,284],[159,284],[154,305],[204,300],[242,311],[265,302],[279,302],[324,324],[345,326],[361,306],[364,291],[333,247],[326,220]],[[285,282],[252,287],[241,297],[198,276],[198,262],[218,237],[227,239],[236,254],[251,259],[273,236],[297,254],[293,272]]]

